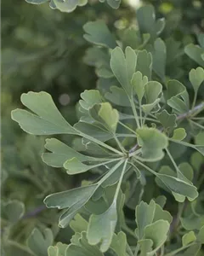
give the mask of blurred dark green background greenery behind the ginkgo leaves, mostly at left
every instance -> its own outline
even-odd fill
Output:
[[[132,1],[133,3],[133,1]],[[181,44],[197,43],[196,34],[204,32],[204,4],[201,1],[171,0],[144,1],[152,3],[158,17],[165,16],[167,29],[163,37]],[[141,1],[140,1],[141,4]],[[1,235],[6,241],[5,255],[31,255],[22,247],[34,227],[51,227],[58,234],[56,241],[69,242],[70,228],[60,230],[59,214],[46,210],[42,204],[45,195],[71,189],[82,180],[69,177],[63,170],[43,164],[40,155],[44,138],[26,135],[10,118],[10,111],[22,108],[20,95],[29,90],[50,93],[60,112],[71,124],[77,121],[76,103],[85,89],[96,87],[94,67],[84,61],[90,44],[82,37],[82,26],[89,20],[102,19],[118,36],[128,26],[137,26],[135,9],[127,1],[120,9],[111,9],[96,0],[77,8],[71,14],[52,10],[48,4],[31,5],[24,0],[7,0],[1,4],[2,23],[2,131],[1,131],[1,198],[22,202],[20,222],[8,225],[1,220]],[[194,61],[185,59],[182,72],[194,67]],[[184,79],[187,78],[184,76]],[[204,96],[202,91],[200,97]],[[71,143],[71,137],[64,142]],[[2,205],[4,202],[1,202]],[[9,208],[12,214],[12,208]],[[12,227],[12,228],[10,228]],[[6,232],[6,236],[5,236]],[[58,233],[59,232],[59,233]]]

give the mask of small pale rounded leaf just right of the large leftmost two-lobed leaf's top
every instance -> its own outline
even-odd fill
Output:
[[[103,98],[100,95],[99,90],[84,90],[80,96],[82,100],[79,101],[79,104],[86,110],[93,108],[95,104],[103,102]]]

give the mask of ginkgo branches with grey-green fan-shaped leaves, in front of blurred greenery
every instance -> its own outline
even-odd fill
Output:
[[[42,2],[47,1],[35,3]],[[113,8],[120,3],[107,2]],[[69,1],[51,1],[50,5],[69,12],[85,3],[73,1],[70,6]],[[158,38],[165,30],[165,20],[156,19],[151,5],[139,9],[137,19],[139,29],[127,29],[121,38],[112,35],[102,20],[83,27],[84,38],[94,44],[84,60],[95,67],[99,80],[95,90],[82,92],[75,125],[65,120],[45,91],[24,93],[21,102],[26,108],[11,113],[22,130],[48,137],[42,154],[48,166],[61,167],[68,175],[96,175],[77,188],[44,199],[46,207],[62,210],[59,227],[70,225],[75,234],[69,245],[53,245],[51,230],[42,234],[34,230],[28,246],[35,255],[46,255],[47,248],[49,256],[201,253],[204,218],[199,172],[204,162],[204,102],[199,91],[204,82],[203,53],[193,44],[185,47],[184,52],[201,66],[189,70],[185,86],[167,68],[170,43],[172,47],[176,43]],[[202,46],[201,39],[200,43]],[[176,60],[177,53],[172,58]],[[71,137],[72,145],[60,141],[59,135]],[[193,155],[191,163],[175,156],[185,150]],[[150,178],[157,191],[178,202],[176,219],[164,209],[167,198],[162,193],[143,201]],[[135,211],[131,228],[125,207]],[[199,221],[196,226],[195,218]],[[179,222],[175,247],[169,241]]]

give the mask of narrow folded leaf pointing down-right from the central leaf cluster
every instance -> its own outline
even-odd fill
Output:
[[[190,183],[185,183],[178,177],[172,177],[166,174],[157,173],[157,177],[164,183],[168,189],[179,195],[184,195],[190,198],[190,201],[195,200],[198,196],[198,192],[195,186]]]

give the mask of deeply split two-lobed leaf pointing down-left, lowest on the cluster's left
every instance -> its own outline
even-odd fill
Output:
[[[68,210],[66,210],[59,218],[59,226],[65,227],[70,223],[71,219],[77,214],[82,206],[87,203],[91,196],[94,195],[97,187],[97,184],[93,184],[48,195],[44,199],[44,203],[48,208],[68,208]]]

